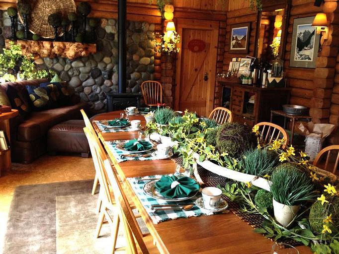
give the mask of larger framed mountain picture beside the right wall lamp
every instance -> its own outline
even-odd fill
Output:
[[[293,22],[291,67],[315,68],[320,35],[312,27],[314,17],[295,18]]]

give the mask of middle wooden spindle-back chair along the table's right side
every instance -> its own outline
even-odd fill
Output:
[[[288,134],[283,127],[268,122],[257,123],[256,126],[259,127],[260,139],[265,144],[280,138],[284,139],[283,148],[288,144]]]

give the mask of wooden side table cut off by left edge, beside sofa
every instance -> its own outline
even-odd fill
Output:
[[[6,134],[8,141],[10,142],[10,127],[9,119],[16,117],[19,112],[16,109],[12,109],[11,112],[0,114],[0,130],[3,130]],[[10,170],[12,164],[10,159],[10,148],[5,151],[0,151],[0,176],[2,170]]]

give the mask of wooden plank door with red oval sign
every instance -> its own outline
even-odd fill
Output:
[[[214,106],[219,22],[178,19],[177,32],[181,42],[176,61],[174,108],[208,116]],[[188,49],[188,43],[194,39],[205,43],[202,51]]]

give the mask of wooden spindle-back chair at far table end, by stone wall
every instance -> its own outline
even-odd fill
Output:
[[[152,80],[142,82],[141,92],[147,106],[163,104],[163,86],[160,82]]]

